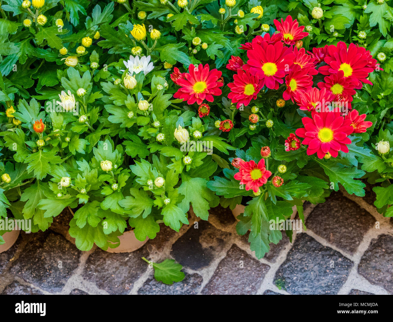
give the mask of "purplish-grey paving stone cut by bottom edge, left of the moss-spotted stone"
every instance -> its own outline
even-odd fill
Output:
[[[202,294],[255,294],[269,269],[269,265],[232,245]]]

